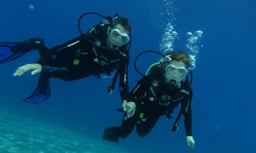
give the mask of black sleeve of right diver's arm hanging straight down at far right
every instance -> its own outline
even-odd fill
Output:
[[[192,109],[191,109],[191,101],[192,101],[192,90],[190,89],[190,94],[187,95],[184,102],[182,102],[182,115],[184,117],[184,123],[186,127],[186,135],[192,136]]]

